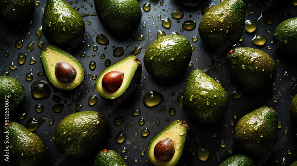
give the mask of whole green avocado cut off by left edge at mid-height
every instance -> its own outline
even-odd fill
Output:
[[[25,90],[23,86],[14,78],[0,76],[0,110],[12,115],[13,110],[17,110],[25,100]]]

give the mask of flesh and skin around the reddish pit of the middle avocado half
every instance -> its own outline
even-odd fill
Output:
[[[102,86],[102,79],[106,74],[113,71],[118,71],[123,74],[122,83],[116,88],[117,90],[115,92],[108,92],[106,88]],[[117,100],[121,103],[130,98],[135,92],[136,88],[139,86],[141,74],[142,64],[140,60],[134,55],[130,55],[101,72],[96,82],[96,90],[102,98],[107,100]]]

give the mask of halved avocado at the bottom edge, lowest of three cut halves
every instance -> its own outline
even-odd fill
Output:
[[[190,151],[190,127],[175,120],[149,143],[148,157],[155,166],[181,166]]]

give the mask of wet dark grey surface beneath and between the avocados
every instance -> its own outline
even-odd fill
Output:
[[[69,3],[70,1],[67,0]],[[79,1],[78,4],[75,4],[75,1],[72,1],[72,7],[79,7],[79,13],[94,13],[95,8],[91,7],[86,1]],[[89,158],[83,160],[74,160],[70,158],[63,158],[61,157],[61,153],[56,149],[54,142],[53,142],[53,134],[52,132],[55,130],[55,126],[58,122],[66,117],[69,114],[75,113],[75,107],[77,103],[83,104],[80,111],[99,111],[102,113],[108,121],[108,133],[106,135],[106,139],[103,142],[100,142],[101,149],[98,149],[98,152],[102,149],[112,149],[117,151],[121,157],[127,157],[125,162],[128,165],[151,165],[147,157],[147,147],[149,141],[156,135],[155,133],[159,133],[164,127],[166,127],[170,122],[176,119],[181,119],[186,121],[189,126],[191,127],[192,133],[189,139],[191,139],[191,150],[189,152],[189,156],[186,160],[187,165],[218,165],[220,162],[225,160],[226,158],[233,156],[235,154],[240,154],[233,143],[233,133],[235,125],[231,125],[231,120],[236,124],[236,122],[245,114],[249,113],[250,111],[259,108],[261,106],[272,106],[279,114],[279,121],[282,123],[282,128],[279,129],[279,136],[278,136],[278,144],[276,150],[272,150],[272,156],[266,159],[264,158],[257,158],[255,159],[256,165],[275,165],[279,166],[284,164],[285,161],[287,163],[285,165],[290,165],[292,162],[297,160],[296,157],[296,132],[294,131],[294,125],[291,122],[290,114],[289,114],[289,106],[293,96],[296,95],[296,92],[293,90],[296,84],[296,61],[292,59],[290,56],[286,55],[281,51],[276,51],[277,45],[275,43],[271,43],[273,41],[273,33],[275,31],[276,26],[281,22],[281,19],[285,15],[288,15],[287,18],[295,17],[296,14],[296,7],[291,4],[290,1],[284,0],[281,1],[277,7],[272,7],[266,9],[267,6],[260,6],[254,1],[245,1],[247,11],[255,11],[254,14],[248,15],[246,20],[253,20],[255,23],[258,24],[258,28],[254,33],[244,33],[243,34],[243,42],[236,43],[235,47],[237,46],[245,46],[245,47],[252,47],[257,49],[262,49],[264,52],[270,55],[276,65],[277,65],[277,78],[275,80],[275,84],[268,87],[267,90],[257,91],[257,92],[245,92],[243,91],[242,96],[239,99],[234,99],[231,95],[232,92],[241,91],[242,88],[234,82],[232,76],[228,71],[228,67],[225,63],[225,55],[229,50],[223,50],[221,56],[216,56],[217,50],[212,48],[207,48],[206,45],[201,41],[199,38],[198,41],[192,42],[191,37],[198,35],[198,24],[202,17],[201,15],[201,8],[205,4],[211,4],[212,6],[219,3],[219,1],[207,1],[203,2],[197,7],[189,8],[185,7],[183,4],[179,3],[178,1],[164,1],[164,5],[160,6],[159,0],[151,0],[151,1],[138,1],[140,6],[142,7],[145,3],[151,3],[151,10],[149,12],[143,11],[143,16],[141,23],[139,25],[139,31],[132,34],[130,37],[131,39],[122,39],[121,36],[114,36],[106,31],[105,28],[102,27],[101,23],[97,16],[88,16],[83,17],[83,20],[86,24],[86,33],[83,37],[83,45],[77,46],[75,45],[75,49],[70,47],[69,49],[72,50],[70,54],[75,56],[84,66],[85,68],[85,75],[86,78],[82,87],[77,89],[77,91],[72,92],[61,92],[59,90],[55,90],[51,87],[50,97],[42,100],[34,100],[31,96],[31,84],[34,81],[38,81],[40,79],[45,80],[46,76],[37,76],[38,71],[42,71],[42,65],[40,63],[39,54],[41,49],[37,45],[37,34],[35,30],[41,26],[42,20],[42,11],[45,6],[45,1],[41,1],[40,5],[36,7],[34,12],[34,17],[31,19],[32,24],[28,26],[20,27],[19,29],[13,28],[12,25],[9,23],[1,23],[0,26],[0,36],[6,39],[7,41],[12,43],[12,48],[8,48],[7,46],[0,46],[0,62],[3,63],[0,65],[0,75],[2,75],[3,71],[9,71],[9,76],[16,78],[25,88],[26,92],[26,99],[21,108],[18,110],[18,113],[26,113],[26,118],[20,120],[17,116],[10,116],[9,120],[13,122],[18,122],[22,125],[26,125],[26,122],[33,117],[34,119],[40,119],[42,116],[54,117],[55,121],[52,125],[48,125],[48,123],[44,122],[43,125],[40,127],[39,131],[35,132],[42,141],[45,143],[48,151],[48,161],[47,165],[55,165],[56,162],[59,162],[59,165],[93,165],[94,156],[90,156]],[[91,1],[93,4],[93,1]],[[84,7],[81,7],[81,6]],[[166,6],[165,6],[166,5]],[[268,4],[269,5],[269,4]],[[272,6],[272,5],[270,5]],[[154,10],[156,7],[156,10]],[[165,11],[162,10],[165,9]],[[171,17],[171,13],[173,10],[182,9],[184,12],[184,17],[180,19],[180,23],[177,23],[176,19]],[[273,24],[267,25],[265,20],[261,23],[257,21],[257,19],[261,16],[261,9],[264,11],[263,14],[266,17],[270,17],[273,19]],[[168,10],[168,12],[167,12]],[[150,17],[148,17],[148,14]],[[172,25],[170,29],[163,28],[161,25],[161,21],[158,20],[158,16],[161,14],[161,19],[169,17],[172,21]],[[192,15],[191,18],[189,15]],[[153,18],[154,16],[154,18]],[[194,20],[197,24],[196,28],[193,31],[186,31],[181,32],[182,23],[185,20]],[[91,22],[91,25],[88,25],[88,22]],[[146,23],[146,27],[143,27],[143,22]],[[153,25],[154,24],[154,25]],[[158,26],[158,28],[157,28]],[[149,35],[149,30],[151,35]],[[145,49],[151,44],[154,40],[157,39],[157,31],[163,30],[167,35],[171,32],[178,32],[183,36],[187,36],[191,44],[195,46],[195,50],[192,54],[192,66],[189,66],[184,74],[178,77],[175,80],[170,82],[162,83],[157,79],[153,79],[143,67],[143,76],[140,82],[140,87],[135,94],[135,96],[129,100],[129,102],[124,103],[121,106],[118,106],[118,103],[110,103],[106,100],[103,100],[99,97],[96,90],[92,90],[92,87],[95,85],[96,80],[92,79],[92,75],[99,76],[100,72],[104,70],[106,67],[104,65],[105,60],[110,59],[111,64],[115,63],[116,61],[130,55],[132,51],[134,51],[135,47],[142,47],[142,51],[140,54],[136,55],[141,62],[143,62],[143,55]],[[26,39],[26,34],[30,32],[31,35],[29,39]],[[109,39],[109,45],[103,46],[96,43],[96,36],[97,34],[104,34]],[[94,37],[92,36],[94,34]],[[136,38],[139,35],[144,35],[145,40],[143,41],[136,41]],[[267,44],[264,46],[254,46],[251,44],[251,40],[254,38],[255,35],[262,34],[265,36],[268,41]],[[199,36],[199,35],[198,35]],[[18,39],[23,39],[24,45],[19,50],[15,47],[15,42]],[[26,45],[32,41],[34,42],[35,50],[32,52],[27,52]],[[49,44],[49,42],[45,39],[44,36],[41,37],[40,41],[44,42],[44,47]],[[94,44],[92,43],[94,42]],[[86,46],[89,43],[90,48]],[[98,50],[94,51],[93,46],[97,45]],[[268,46],[271,47],[268,50]],[[44,49],[42,48],[42,50]],[[77,48],[79,47],[79,48]],[[104,48],[107,47],[105,50]],[[122,57],[114,57],[113,50],[116,47],[123,47],[124,48],[124,55]],[[68,50],[68,48],[64,48]],[[5,51],[9,52],[9,56],[4,56]],[[69,50],[68,50],[69,51]],[[85,57],[80,57],[82,53],[85,52]],[[23,65],[20,65],[17,62],[18,53],[25,53],[28,55],[26,58],[26,62]],[[105,58],[101,59],[100,56],[105,54]],[[93,57],[92,55],[95,55]],[[34,57],[37,60],[37,63],[33,65],[29,65],[30,58]],[[95,61],[97,63],[97,67],[94,70],[89,68],[89,63],[91,61]],[[11,70],[9,68],[9,64],[13,62],[14,65],[17,67],[17,70]],[[218,65],[218,64],[222,64]],[[7,66],[5,66],[7,64]],[[219,67],[221,66],[221,67]],[[29,69],[32,68],[33,71]],[[179,92],[183,92],[184,85],[186,83],[186,79],[190,71],[195,68],[203,69],[207,71],[208,74],[213,78],[221,79],[224,83],[224,88],[229,95],[230,106],[228,109],[227,114],[224,118],[212,125],[205,125],[195,122],[192,120],[184,110],[182,110],[177,103],[177,95]],[[290,74],[285,77],[285,71],[289,71]],[[32,73],[33,80],[26,81],[26,74]],[[91,74],[90,77],[88,75]],[[295,78],[295,81],[292,81],[292,78]],[[290,83],[291,82],[291,83]],[[50,85],[50,83],[49,83]],[[143,105],[143,97],[144,95],[151,91],[155,90],[160,92],[164,96],[164,102],[161,105],[154,107],[154,108],[146,108]],[[77,96],[80,93],[79,97]],[[64,104],[64,110],[57,114],[53,111],[53,106],[56,102],[53,100],[53,95],[57,95],[61,98],[60,104]],[[91,95],[98,96],[98,102],[94,106],[89,106],[88,99]],[[77,98],[78,99],[74,99]],[[277,99],[277,100],[273,100]],[[66,101],[65,101],[66,100]],[[64,103],[65,102],[65,103]],[[276,103],[277,102],[277,103]],[[41,104],[44,106],[43,112],[35,111],[35,105]],[[176,108],[176,114],[171,116],[169,114],[169,109],[171,107]],[[141,110],[140,116],[132,117],[132,111],[135,108],[139,108]],[[161,112],[161,109],[165,108],[165,113]],[[234,119],[233,114],[237,114],[238,118]],[[113,124],[113,119],[116,117],[123,116],[123,123],[121,125],[116,126]],[[138,120],[140,118],[145,119],[144,125],[139,125]],[[170,119],[168,122],[165,119]],[[157,126],[157,121],[160,121],[160,125]],[[131,127],[128,130],[125,130],[125,125],[132,122]],[[223,124],[227,124],[224,126]],[[289,128],[288,133],[285,136],[285,128]],[[140,135],[141,130],[144,128],[148,128],[150,130],[150,135],[147,137],[142,137]],[[116,135],[121,131],[124,130],[127,135],[127,140],[122,143],[118,144],[115,142]],[[138,138],[135,139],[134,135],[138,132]],[[217,137],[213,138],[212,133],[217,132]],[[285,137],[285,143],[283,143],[282,138]],[[194,143],[194,140],[200,138],[200,144]],[[221,141],[225,141],[229,143],[227,148],[221,149],[219,143]],[[283,144],[282,144],[282,143]],[[207,145],[211,149],[211,154],[207,162],[203,163],[200,162],[196,157],[197,150],[202,146]],[[121,153],[122,146],[127,148],[126,153]],[[133,149],[132,146],[137,147],[137,149]],[[145,149],[144,156],[141,155],[141,151]],[[291,154],[288,154],[288,151],[291,151]],[[220,154],[220,155],[218,155]],[[217,156],[218,155],[218,156]],[[58,160],[57,160],[58,159]],[[138,162],[134,160],[138,159]],[[1,149],[1,160],[3,160],[3,153]]]

